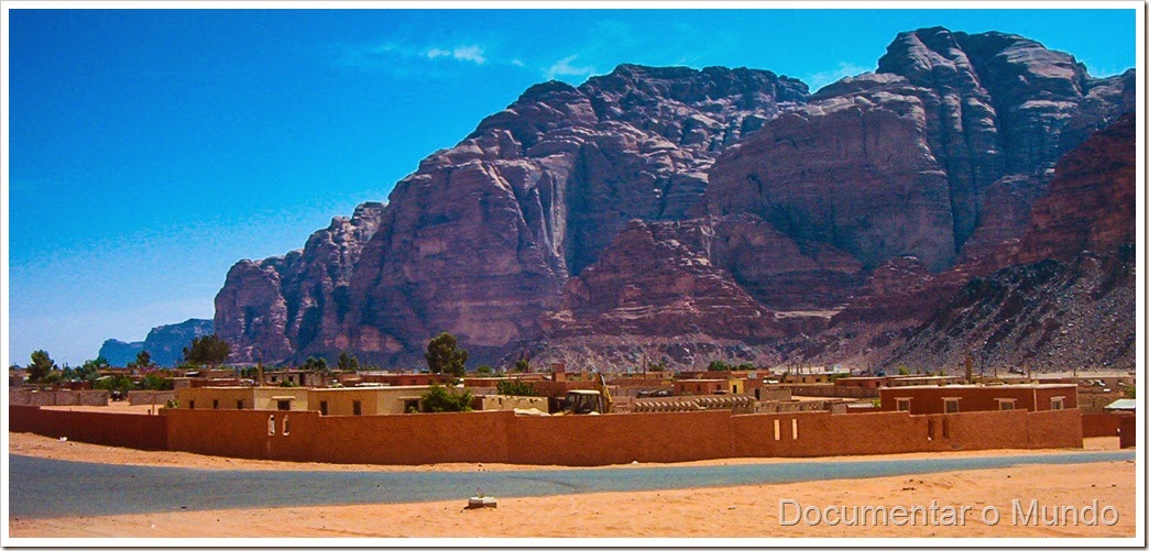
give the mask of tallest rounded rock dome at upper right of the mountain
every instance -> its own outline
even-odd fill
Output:
[[[1092,78],[1011,34],[905,32],[877,73],[730,148],[710,170],[710,212],[757,214],[867,269],[911,255],[938,272],[1019,236],[1054,163],[1129,109],[1131,77]]]

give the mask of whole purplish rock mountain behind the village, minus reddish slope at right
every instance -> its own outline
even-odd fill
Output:
[[[971,278],[1112,233],[1087,216],[1088,239],[1061,240],[1077,218],[1043,197],[1071,170],[1058,160],[1133,109],[1134,78],[1023,37],[921,29],[813,95],[724,68],[535,85],[386,207],[237,263],[216,327],[234,360],[415,364],[448,331],[479,360],[872,362]],[[1026,232],[1052,234],[1024,249],[1036,257],[1017,249],[1039,240]]]

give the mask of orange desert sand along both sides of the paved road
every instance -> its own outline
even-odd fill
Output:
[[[318,465],[257,461],[145,452],[43,436],[9,433],[9,453],[74,460],[198,468],[282,469],[495,469],[560,468],[516,465],[455,464],[416,467]],[[1088,439],[1086,449],[1116,449],[1116,439]],[[1021,450],[944,453],[944,457],[1031,453]],[[896,457],[942,455],[910,453]],[[825,458],[858,460],[865,458]],[[769,463],[785,459],[730,459],[701,464]],[[805,460],[805,459],[803,459]],[[697,465],[700,463],[694,463]],[[998,469],[889,476],[850,481],[759,484],[732,488],[606,492],[577,496],[500,498],[498,509],[465,510],[465,499],[416,504],[304,506],[280,509],[184,511],[117,517],[60,519],[9,518],[11,537],[1133,537],[1136,526],[1136,467],[1133,461],[1088,465],[1027,465]],[[496,491],[492,492],[496,494]],[[495,495],[498,497],[498,495]],[[969,506],[964,526],[954,517],[935,517],[916,526],[782,526],[780,499],[802,507],[882,505],[923,506],[936,502]],[[1018,523],[1012,500],[1024,513],[1032,499],[1078,509],[1097,499],[1110,506],[1116,523],[1026,526]],[[1001,513],[996,526],[981,511]],[[793,520],[793,505],[785,520]],[[1048,511],[1048,510],[1047,510]],[[947,522],[947,520],[949,522]],[[1113,520],[1110,514],[1105,520]],[[948,526],[946,526],[948,525]]]

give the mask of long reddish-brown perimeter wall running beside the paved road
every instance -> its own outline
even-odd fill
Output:
[[[313,411],[163,411],[162,416],[138,416],[11,406],[10,430],[250,459],[569,466],[1080,448],[1082,435],[1077,409],[930,416],[825,411],[732,416],[726,410],[578,417],[527,417],[511,411],[362,417],[324,417]]]

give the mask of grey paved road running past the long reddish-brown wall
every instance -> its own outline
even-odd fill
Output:
[[[1134,460],[1133,451],[902,460],[794,461],[646,468],[495,472],[211,471],[8,456],[9,518],[131,514],[256,506],[664,490],[857,479],[1027,464]]]

